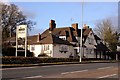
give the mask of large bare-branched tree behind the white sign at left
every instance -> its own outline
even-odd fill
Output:
[[[27,20],[27,17],[15,4],[7,5],[0,3],[0,13],[3,40],[15,36],[16,26],[20,24],[27,24],[29,29],[35,25],[31,20]]]

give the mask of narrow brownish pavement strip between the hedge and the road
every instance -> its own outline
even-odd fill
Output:
[[[37,63],[37,64],[0,64],[2,68],[13,67],[31,67],[31,66],[47,66],[47,65],[63,65],[63,64],[89,64],[89,63],[117,63],[115,60],[94,60],[82,62],[56,62],[56,63]]]

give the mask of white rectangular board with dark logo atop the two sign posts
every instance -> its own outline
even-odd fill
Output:
[[[17,27],[17,37],[25,38],[27,36],[27,25],[20,25]]]

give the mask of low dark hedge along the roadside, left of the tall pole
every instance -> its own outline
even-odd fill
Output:
[[[37,57],[1,57],[2,64],[36,64],[53,62],[78,62],[79,59],[71,58],[37,58]]]

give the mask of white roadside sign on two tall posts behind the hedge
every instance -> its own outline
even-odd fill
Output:
[[[25,42],[25,57],[27,56],[27,25],[19,25],[16,29],[16,56],[18,55],[18,39]]]

